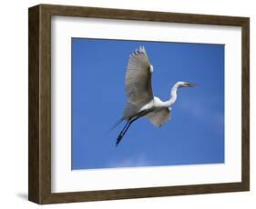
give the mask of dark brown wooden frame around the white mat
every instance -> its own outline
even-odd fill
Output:
[[[29,141],[28,199],[37,204],[98,201],[179,194],[210,194],[250,190],[250,19],[67,5],[29,8]],[[51,15],[158,21],[242,28],[241,183],[197,184],[108,191],[51,193]]]

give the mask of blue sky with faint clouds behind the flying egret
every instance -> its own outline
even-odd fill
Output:
[[[128,56],[144,45],[153,93],[181,88],[171,120],[132,124],[118,147]],[[224,163],[224,45],[72,38],[72,169]]]

